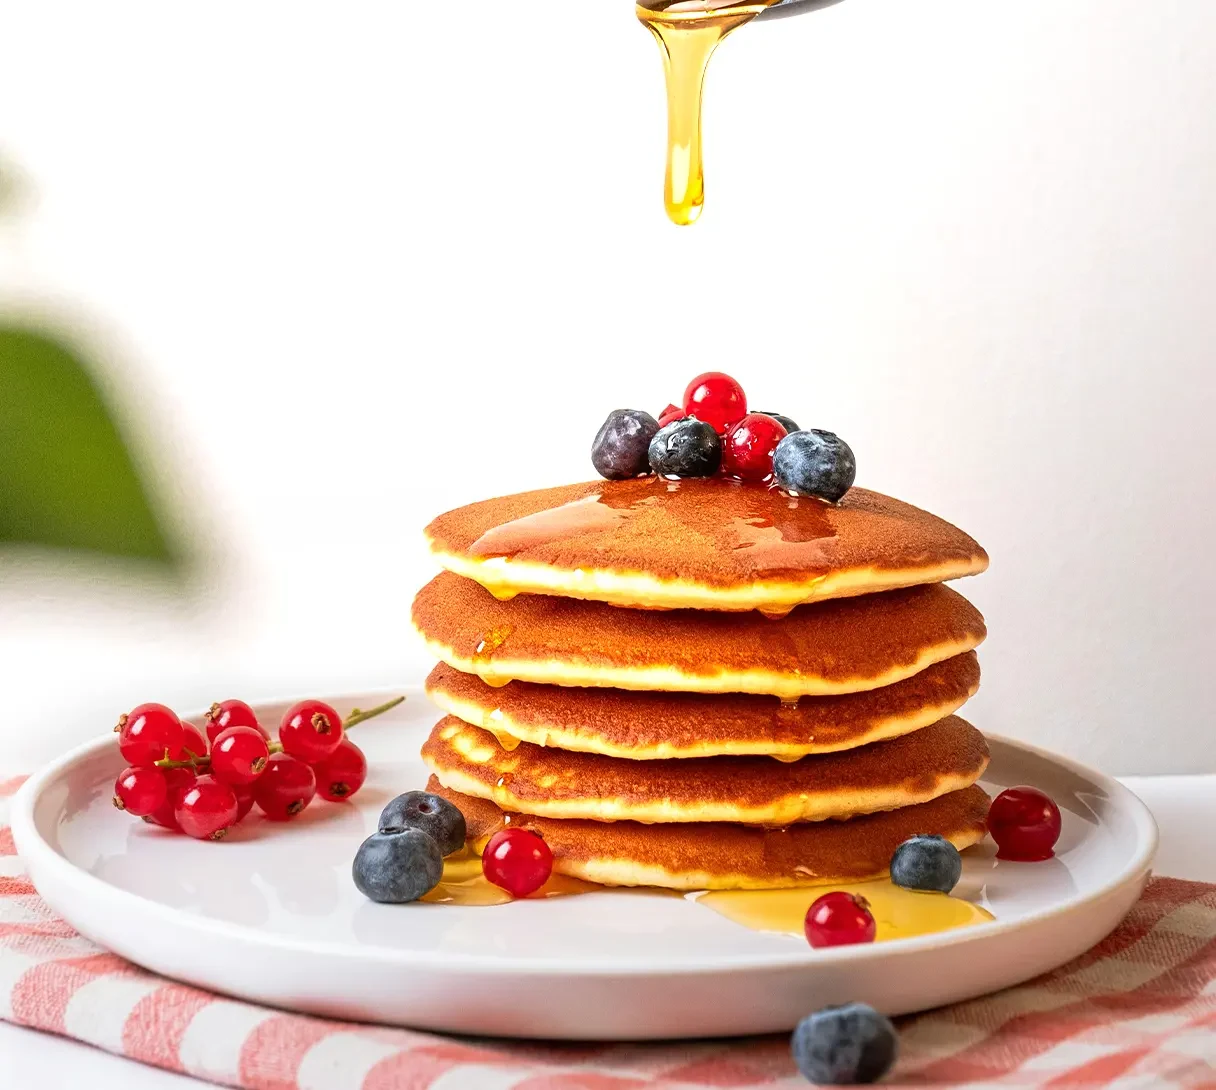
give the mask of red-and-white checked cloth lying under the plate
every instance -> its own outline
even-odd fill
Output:
[[[505,1045],[328,1022],[154,977],[56,918],[5,825],[0,1018],[250,1090],[805,1086],[784,1036]],[[895,1086],[1216,1088],[1216,886],[1154,881],[1100,946],[1008,991],[903,1019]]]

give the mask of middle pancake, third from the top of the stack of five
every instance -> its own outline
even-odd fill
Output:
[[[630,692],[591,696],[561,685],[486,685],[439,663],[427,695],[452,715],[512,740],[630,760],[761,754],[796,759],[894,738],[945,719],[979,689],[974,651],[869,692],[786,703],[749,693]]]

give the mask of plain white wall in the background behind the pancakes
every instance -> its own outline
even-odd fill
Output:
[[[0,304],[91,330],[206,560],[0,567],[0,764],[420,680],[421,527],[722,369],[989,549],[978,725],[1216,765],[1216,4],[849,0],[706,108],[677,230],[627,0],[0,0]]]

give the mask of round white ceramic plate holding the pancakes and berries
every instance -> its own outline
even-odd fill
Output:
[[[339,710],[384,693],[334,697]],[[268,723],[283,704],[264,706]],[[1144,805],[1071,762],[990,738],[990,790],[1032,783],[1064,814],[1057,859],[969,850],[959,893],[996,922],[812,950],[708,908],[646,892],[496,908],[377,905],[350,861],[393,796],[426,783],[418,747],[439,712],[417,690],[358,727],[371,777],[354,803],[291,825],[250,816],[220,843],[111,805],[112,734],[21,791],[13,833],[46,901],[89,938],[154,972],[337,1018],[506,1036],[609,1039],[786,1030],[828,1002],[901,1013],[1004,988],[1087,950],[1136,901],[1156,848]]]

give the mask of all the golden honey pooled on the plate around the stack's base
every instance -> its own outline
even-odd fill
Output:
[[[463,852],[444,860],[443,878],[422,900],[426,904],[465,906],[505,905],[513,900],[510,893],[500,889],[482,872],[482,856],[478,852],[482,847],[484,844],[466,847]],[[953,931],[992,918],[990,912],[968,900],[947,897],[945,893],[901,889],[885,878],[843,886],[804,886],[796,889],[717,889],[691,893],[687,898],[753,931],[801,936],[803,921],[811,903],[837,889],[866,898],[877,925],[874,940],[879,943]],[[554,873],[528,899],[545,900],[596,892],[608,893],[612,889]],[[647,892],[675,895],[670,889]]]

